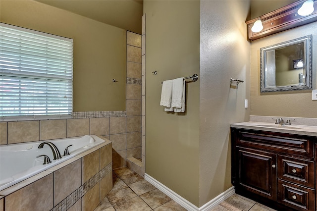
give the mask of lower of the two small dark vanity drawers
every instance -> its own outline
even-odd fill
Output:
[[[297,211],[315,211],[315,191],[310,188],[278,181],[278,203]]]

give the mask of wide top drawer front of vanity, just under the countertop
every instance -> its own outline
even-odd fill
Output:
[[[264,149],[312,158],[314,137],[256,130],[238,130],[237,146]]]

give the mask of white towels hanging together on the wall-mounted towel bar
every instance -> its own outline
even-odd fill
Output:
[[[169,91],[170,82],[172,82],[171,91]],[[185,97],[184,78],[163,81],[160,106],[164,106],[164,111],[185,112]]]

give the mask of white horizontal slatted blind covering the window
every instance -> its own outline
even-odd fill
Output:
[[[0,120],[71,117],[73,40],[0,23]]]

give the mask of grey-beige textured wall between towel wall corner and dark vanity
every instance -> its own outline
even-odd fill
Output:
[[[249,8],[247,0],[201,1],[200,206],[231,187],[230,123],[249,120]]]

